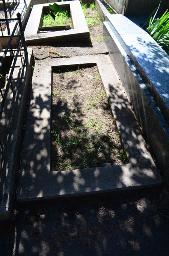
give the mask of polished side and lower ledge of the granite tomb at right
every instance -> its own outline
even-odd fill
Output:
[[[143,128],[143,134],[169,184],[169,124],[107,22],[104,22],[103,34],[110,57]]]

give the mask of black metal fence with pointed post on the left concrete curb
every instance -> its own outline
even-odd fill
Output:
[[[2,97],[2,101],[0,103],[0,124],[2,123],[2,116],[3,113],[5,111],[5,103],[6,100],[10,100],[8,99],[8,93],[9,93],[9,89],[11,89],[12,91],[12,98],[11,98],[11,102],[10,102],[10,107],[9,107],[9,111],[8,111],[8,116],[6,117],[6,123],[5,123],[5,132],[3,133],[3,138],[0,138],[0,170],[2,169],[2,163],[3,163],[3,157],[4,157],[4,150],[5,150],[5,146],[6,146],[6,142],[7,142],[7,138],[9,135],[9,127],[10,127],[10,122],[11,122],[11,117],[12,117],[12,110],[13,110],[13,106],[15,103],[15,96],[18,90],[17,87],[17,83],[14,83],[12,81],[12,75],[14,73],[14,69],[18,60],[18,57],[21,58],[21,63],[23,65],[24,60],[22,58],[22,54],[21,51],[24,51],[24,56],[26,57],[27,55],[27,47],[26,47],[26,41],[24,38],[24,31],[23,31],[23,27],[22,27],[22,21],[21,21],[21,14],[18,13],[17,14],[17,18],[11,18],[11,19],[5,19],[6,21],[9,20],[13,20],[16,21],[14,30],[12,31],[12,34],[9,38],[8,44],[6,46],[6,49],[3,51],[3,56],[0,59],[0,79],[2,79],[2,74],[1,71],[3,69],[7,54],[11,55],[13,61],[12,61],[12,66],[9,72],[9,76],[8,76],[8,80],[6,81],[4,90],[2,91],[2,89],[0,89],[0,94]],[[0,22],[2,21],[2,19],[0,19]],[[15,35],[17,26],[19,25],[20,28],[20,35]],[[17,49],[13,49],[12,48],[12,40],[18,37],[18,48]],[[21,49],[21,46],[23,45],[23,49]]]

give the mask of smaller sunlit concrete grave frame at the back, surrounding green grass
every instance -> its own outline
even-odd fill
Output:
[[[57,4],[70,6],[73,29],[38,34],[38,28],[42,18],[42,11],[45,6],[48,6],[48,4],[34,5],[24,32],[27,45],[47,42],[51,43],[52,41],[55,43],[65,41],[91,41],[89,29],[80,2],[75,0],[57,2]]]

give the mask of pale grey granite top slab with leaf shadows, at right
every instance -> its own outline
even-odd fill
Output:
[[[107,23],[169,123],[169,56],[146,31],[123,15],[109,15]]]

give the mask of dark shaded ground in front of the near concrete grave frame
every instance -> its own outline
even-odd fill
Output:
[[[168,213],[159,189],[16,205],[14,219],[1,225],[1,253],[165,256]]]

